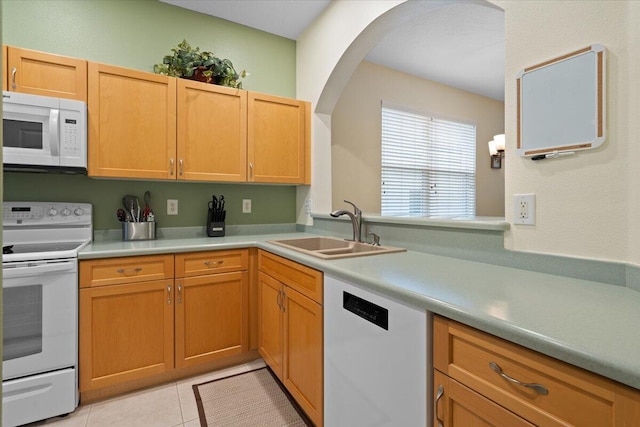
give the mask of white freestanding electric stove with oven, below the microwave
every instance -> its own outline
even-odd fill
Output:
[[[2,206],[2,425],[78,406],[78,251],[92,239],[87,203]]]

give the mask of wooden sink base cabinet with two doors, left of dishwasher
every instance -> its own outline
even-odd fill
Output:
[[[296,280],[315,276],[307,284],[319,289],[302,289],[321,295],[322,273],[267,252],[258,257],[258,352],[309,419],[322,426],[322,305],[295,289]]]

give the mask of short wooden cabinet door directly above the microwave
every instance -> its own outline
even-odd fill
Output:
[[[13,46],[5,60],[8,90],[87,102],[87,61]]]

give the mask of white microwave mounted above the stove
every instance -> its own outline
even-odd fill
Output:
[[[5,170],[86,173],[87,104],[3,91],[2,155]]]

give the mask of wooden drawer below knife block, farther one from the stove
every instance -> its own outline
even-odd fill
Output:
[[[208,251],[176,254],[176,277],[228,273],[249,268],[249,251]]]

